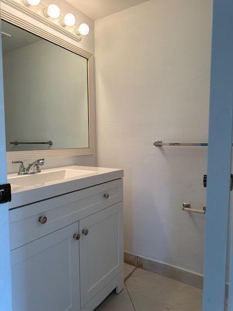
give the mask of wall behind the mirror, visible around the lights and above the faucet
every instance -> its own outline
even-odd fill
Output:
[[[48,5],[50,4],[50,0],[42,0],[42,4]],[[47,27],[43,24],[41,24],[38,21],[35,21],[33,18],[28,17],[27,15],[24,15],[21,12],[18,12],[17,10],[13,9],[12,7],[6,5],[5,3],[1,3],[1,9],[7,9],[7,11],[11,12],[12,14],[15,14],[17,17],[21,17],[28,22],[33,23],[36,27],[42,28],[48,32],[50,32],[53,35],[57,35],[63,40],[66,40],[69,43],[72,43],[88,52],[91,52],[94,54],[95,52],[95,39],[94,39],[94,21],[84,15],[81,11],[74,8],[72,5],[67,3],[65,0],[56,0],[56,4],[58,4],[61,8],[61,15],[64,16],[67,12],[71,12],[76,16],[77,25],[81,23],[87,23],[90,27],[90,32],[88,35],[83,37],[82,41],[76,42],[72,39],[67,38],[65,35],[62,35],[60,33],[57,33],[55,30],[50,29],[50,27]],[[23,159],[22,159],[23,160]],[[34,159],[32,159],[34,160]],[[26,160],[26,163],[31,162],[32,160]],[[58,167],[61,165],[96,165],[96,153],[94,155],[81,155],[81,156],[72,156],[72,157],[56,157],[56,158],[48,158],[46,159],[46,165],[44,168],[51,168],[51,167]],[[13,166],[10,161],[7,161],[7,170],[8,173],[17,172],[18,167],[15,165]]]

